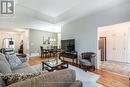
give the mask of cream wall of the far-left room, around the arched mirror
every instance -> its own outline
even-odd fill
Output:
[[[18,51],[20,43],[24,42],[24,53],[28,53],[29,50],[29,29],[4,29],[0,28],[0,48],[2,48],[2,40],[4,38],[12,38],[15,40],[15,51]]]

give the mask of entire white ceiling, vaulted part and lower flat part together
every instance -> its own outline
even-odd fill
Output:
[[[66,23],[129,0],[15,0],[15,18],[2,18],[3,27],[48,30],[52,24]],[[2,27],[1,26],[1,27]],[[51,29],[52,30],[52,29]]]

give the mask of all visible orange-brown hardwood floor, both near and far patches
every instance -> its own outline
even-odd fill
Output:
[[[30,65],[40,64],[41,61],[44,60],[48,59],[42,59],[40,57],[30,58],[29,64]],[[76,64],[73,65],[78,67],[78,65]],[[102,70],[96,69],[95,71],[90,72],[100,75],[100,78],[98,79],[97,83],[104,85],[104,87],[130,87],[130,81],[128,80],[128,77],[120,76],[118,74],[114,74],[112,72],[108,72],[103,69]]]

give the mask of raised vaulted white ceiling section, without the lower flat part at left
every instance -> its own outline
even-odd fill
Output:
[[[42,18],[49,17],[52,23],[59,23],[125,1],[129,0],[17,0],[16,5],[40,13]]]

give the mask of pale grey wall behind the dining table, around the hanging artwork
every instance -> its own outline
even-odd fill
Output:
[[[53,45],[57,46],[58,45],[58,34],[57,33],[30,29],[30,47],[29,47],[30,54],[31,53],[40,53],[40,46],[43,46],[44,48],[46,48],[47,46],[50,47],[52,44],[50,44],[50,45],[43,44],[43,37],[44,37],[44,40],[46,40],[46,39],[48,39],[48,37],[52,37],[52,34],[53,34],[54,38],[56,39],[56,42]]]

